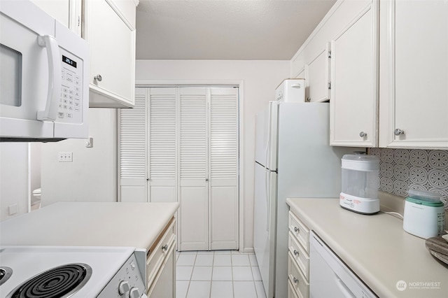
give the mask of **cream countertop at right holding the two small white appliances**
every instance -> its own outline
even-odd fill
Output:
[[[430,255],[424,239],[405,232],[399,218],[347,211],[339,199],[287,203],[379,297],[448,297],[448,266]],[[399,291],[398,281],[407,288]]]

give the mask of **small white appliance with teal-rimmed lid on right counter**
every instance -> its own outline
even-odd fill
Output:
[[[444,204],[440,195],[424,190],[409,190],[405,199],[403,229],[423,239],[442,234],[445,227]]]

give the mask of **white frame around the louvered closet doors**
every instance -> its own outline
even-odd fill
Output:
[[[253,248],[246,251],[244,243],[244,80],[135,80],[135,87],[238,87],[238,250],[241,253],[252,253]]]

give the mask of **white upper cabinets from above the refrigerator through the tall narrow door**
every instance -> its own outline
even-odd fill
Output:
[[[291,60],[307,101],[330,101],[330,145],[378,144],[377,0],[339,0]]]

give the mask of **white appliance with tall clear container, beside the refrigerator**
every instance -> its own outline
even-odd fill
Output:
[[[339,205],[349,211],[374,214],[379,211],[379,159],[374,155],[342,157],[342,192]]]

